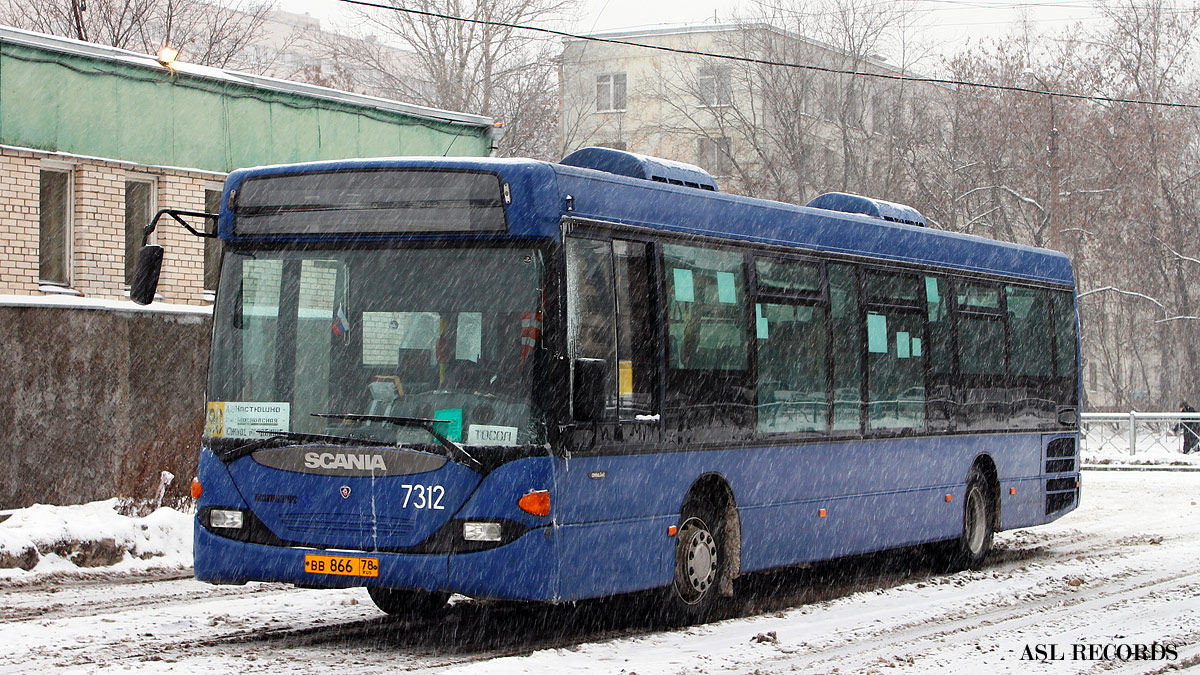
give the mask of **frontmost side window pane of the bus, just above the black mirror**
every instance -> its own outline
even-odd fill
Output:
[[[575,359],[604,359],[605,418],[617,414],[617,330],[612,244],[566,238],[566,344]],[[574,368],[572,377],[574,377]],[[574,383],[572,383],[574,390]]]

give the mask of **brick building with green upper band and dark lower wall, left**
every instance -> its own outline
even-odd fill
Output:
[[[138,307],[128,281],[154,213],[214,210],[238,167],[481,156],[493,131],[479,115],[0,28],[0,508],[112,496],[131,472],[157,474],[138,458],[163,443],[162,462],[184,468],[161,468],[190,476],[218,251],[160,227],[162,301]]]

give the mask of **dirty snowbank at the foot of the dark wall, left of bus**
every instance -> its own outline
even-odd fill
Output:
[[[118,500],[35,504],[0,522],[0,580],[89,569],[145,572],[192,565],[192,516],[160,508],[144,518],[116,512]]]

